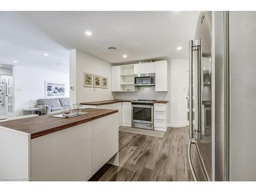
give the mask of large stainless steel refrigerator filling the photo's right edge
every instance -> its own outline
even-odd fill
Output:
[[[256,181],[255,99],[256,12],[201,12],[189,41],[194,180]]]

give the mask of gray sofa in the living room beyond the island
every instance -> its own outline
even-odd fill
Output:
[[[69,98],[38,99],[35,105],[36,108],[42,110],[44,115],[60,111],[63,106],[70,106]]]

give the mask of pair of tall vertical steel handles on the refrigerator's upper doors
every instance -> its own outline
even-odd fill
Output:
[[[189,138],[193,139],[202,139],[202,133],[201,133],[201,123],[202,123],[202,107],[201,107],[201,84],[202,84],[202,65],[201,65],[201,39],[197,40],[190,40],[189,41]],[[194,130],[193,125],[193,52],[197,52],[197,70],[198,70],[198,76],[197,76],[197,90],[198,93],[198,129]],[[196,119],[195,119],[196,120]]]

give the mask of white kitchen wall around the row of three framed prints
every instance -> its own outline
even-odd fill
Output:
[[[75,71],[76,70],[76,71]],[[83,73],[108,77],[108,89],[83,87]],[[111,92],[111,63],[80,50],[70,51],[70,90],[72,102],[89,102],[113,99]]]

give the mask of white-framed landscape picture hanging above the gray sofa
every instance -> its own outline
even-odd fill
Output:
[[[66,83],[45,81],[45,98],[61,98],[66,96]]]

